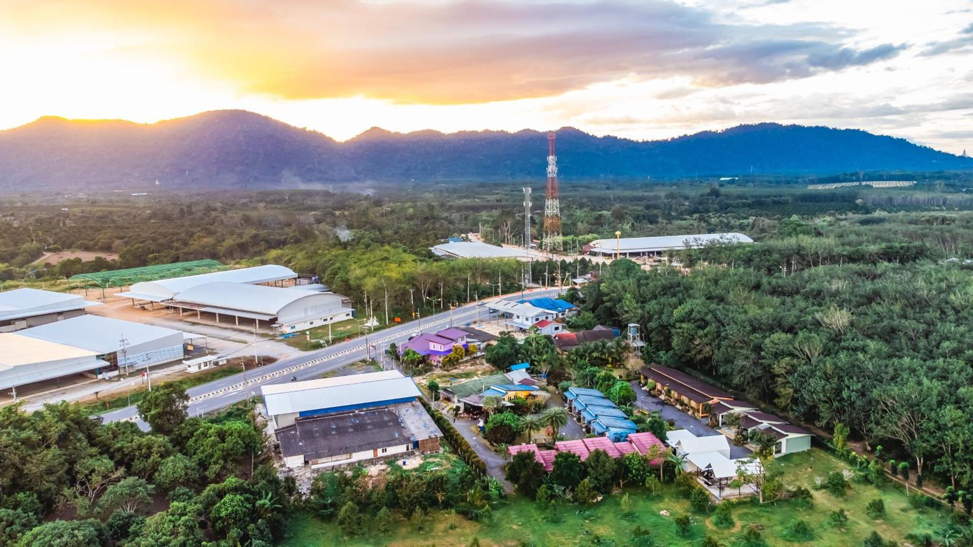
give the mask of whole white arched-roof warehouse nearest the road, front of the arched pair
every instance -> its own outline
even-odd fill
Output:
[[[344,297],[332,292],[300,288],[269,287],[234,282],[210,282],[181,291],[165,306],[202,318],[212,314],[219,323],[240,318],[258,329],[269,327],[276,334],[297,332],[350,318],[353,311],[344,307]]]

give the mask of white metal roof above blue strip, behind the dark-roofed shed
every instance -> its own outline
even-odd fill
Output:
[[[365,377],[370,375],[353,376]],[[357,383],[325,385],[277,393],[268,393],[267,387],[271,386],[264,386],[261,390],[264,393],[264,402],[270,416],[380,403],[422,395],[413,379],[407,377],[364,379]]]

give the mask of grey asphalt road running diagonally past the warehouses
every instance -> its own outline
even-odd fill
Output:
[[[533,292],[526,292],[531,298],[553,296],[558,293],[558,289],[535,289]],[[508,295],[503,297],[503,300],[519,300],[521,295],[522,293]],[[493,300],[497,299],[486,299],[486,302]],[[451,321],[455,326],[465,325],[487,317],[486,306],[477,306],[476,304],[467,304],[451,312]],[[423,317],[421,323],[421,331],[448,327],[450,326],[450,311],[441,311],[429,317]],[[186,394],[190,397],[187,410],[190,416],[205,416],[246,398],[259,397],[261,385],[286,383],[290,382],[292,378],[309,380],[320,377],[325,373],[365,359],[366,339],[370,346],[377,345],[378,350],[381,351],[393,342],[401,344],[408,341],[411,335],[419,331],[418,322],[413,321],[389,327],[368,337],[355,338],[300,357],[265,365],[256,371],[248,371],[245,374],[241,372],[210,383],[199,384],[186,391]],[[371,351],[373,356],[375,351],[376,349]],[[142,429],[148,430],[149,428],[145,421],[138,418],[138,411],[134,405],[122,407],[100,416],[106,423],[127,419],[135,421]]]

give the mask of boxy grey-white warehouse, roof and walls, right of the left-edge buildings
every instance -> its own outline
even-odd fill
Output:
[[[180,331],[98,315],[81,315],[16,334],[93,351],[109,368],[126,371],[181,360],[186,337]]]

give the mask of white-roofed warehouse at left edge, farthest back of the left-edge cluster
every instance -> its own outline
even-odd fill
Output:
[[[85,314],[85,309],[101,306],[67,293],[40,289],[14,289],[0,293],[0,332],[14,332]]]

